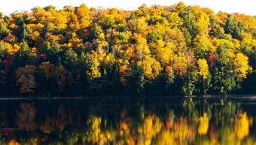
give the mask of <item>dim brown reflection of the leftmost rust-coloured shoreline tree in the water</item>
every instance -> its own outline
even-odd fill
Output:
[[[20,103],[21,110],[17,110],[17,125],[19,128],[26,128],[27,131],[37,128],[35,123],[36,109],[34,105],[35,103]]]

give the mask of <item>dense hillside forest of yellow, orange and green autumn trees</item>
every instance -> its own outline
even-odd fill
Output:
[[[256,93],[256,20],[178,5],[0,14],[1,96]]]

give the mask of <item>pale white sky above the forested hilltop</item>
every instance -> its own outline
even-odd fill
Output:
[[[53,5],[57,9],[62,9],[66,5],[73,7],[81,4],[88,8],[118,8],[123,10],[136,10],[142,4],[151,5],[173,5],[181,0],[0,0],[0,12],[9,15],[14,11],[31,11],[31,8],[39,6],[44,8]],[[183,0],[185,5],[199,5],[201,8],[211,8],[215,13],[223,11],[227,13],[246,14],[256,16],[255,0]]]

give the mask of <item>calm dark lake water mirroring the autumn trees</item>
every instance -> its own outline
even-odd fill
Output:
[[[0,144],[255,144],[256,99],[0,101]]]

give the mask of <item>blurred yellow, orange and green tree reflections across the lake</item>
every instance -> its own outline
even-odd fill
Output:
[[[201,99],[184,99],[179,107],[154,107],[139,104],[136,107],[104,107],[88,111],[60,104],[52,113],[35,119],[35,104],[22,103],[17,111],[17,125],[26,130],[35,130],[41,136],[26,134],[20,137],[20,144],[250,144],[255,140],[249,134],[247,113],[239,104],[223,100],[211,102]],[[105,109],[107,108],[107,109]],[[84,109],[87,113],[84,113]],[[99,111],[100,110],[100,111]],[[68,112],[68,113],[67,113]],[[66,116],[69,114],[69,116]],[[75,119],[75,116],[79,119]],[[86,117],[87,116],[87,117]],[[73,119],[74,118],[74,119]],[[35,122],[38,120],[38,122]],[[69,123],[68,123],[69,120]],[[29,123],[26,123],[28,121]],[[81,123],[78,123],[81,122]],[[35,127],[31,127],[35,126]],[[250,132],[251,133],[251,132]],[[24,138],[25,137],[25,138]],[[2,139],[8,144],[11,139]]]

